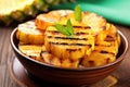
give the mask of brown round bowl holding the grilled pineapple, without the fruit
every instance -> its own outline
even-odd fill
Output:
[[[37,77],[40,82],[51,82],[62,85],[91,85],[94,84],[110,73],[113,73],[125,59],[128,41],[121,32],[118,32],[121,37],[121,45],[117,55],[117,60],[113,63],[96,66],[96,67],[78,67],[78,69],[63,69],[47,63],[41,63],[23,54],[18,49],[18,40],[16,39],[16,30],[11,34],[12,48],[20,60],[20,62],[27,70],[28,74]]]

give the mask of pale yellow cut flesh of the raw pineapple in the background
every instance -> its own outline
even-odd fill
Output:
[[[0,15],[10,14],[12,11],[23,10],[35,0],[0,0]]]

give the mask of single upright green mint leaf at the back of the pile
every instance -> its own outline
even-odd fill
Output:
[[[80,5],[77,5],[75,8],[75,20],[78,21],[78,22],[81,22],[82,21],[82,13],[81,13],[81,8]]]

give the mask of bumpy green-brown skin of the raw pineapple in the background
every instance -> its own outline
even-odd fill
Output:
[[[50,7],[60,2],[63,2],[63,0],[34,0],[31,4],[25,5],[24,9],[15,10],[8,14],[0,14],[0,25],[9,26],[34,18],[37,14],[48,12]]]

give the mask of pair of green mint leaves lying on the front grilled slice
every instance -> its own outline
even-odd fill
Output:
[[[67,21],[66,23],[66,27],[61,25],[61,24],[55,24],[55,28],[62,33],[63,35],[66,35],[66,36],[73,36],[74,35],[74,28],[73,28],[73,25],[70,23],[70,20]]]

